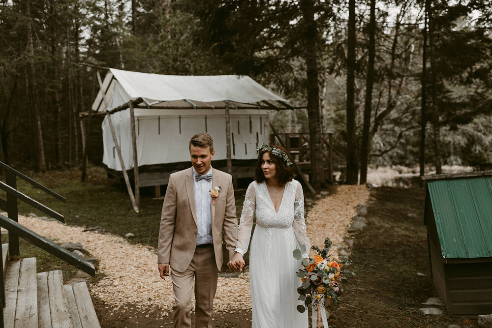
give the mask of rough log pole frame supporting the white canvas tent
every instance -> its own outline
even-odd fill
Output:
[[[113,76],[111,78],[111,80],[109,81],[107,88],[104,88],[99,69],[109,69],[108,67],[101,67],[101,66],[96,66],[96,65],[87,64],[87,63],[79,63],[79,64],[97,68],[96,75],[97,75],[97,81],[99,83],[99,88],[100,88],[100,91],[102,94],[101,101],[104,102],[104,106],[106,108],[105,112],[93,113],[93,111],[91,109],[89,112],[80,113],[79,116],[81,118],[87,117],[89,119],[89,124],[88,124],[89,127],[90,127],[90,121],[91,121],[92,115],[97,115],[97,116],[104,115],[107,117],[109,126],[111,128],[111,135],[113,137],[115,149],[116,149],[116,152],[118,153],[118,158],[120,160],[120,165],[121,165],[122,172],[123,172],[123,178],[124,178],[124,181],[126,184],[126,189],[128,191],[128,195],[130,197],[130,201],[131,201],[133,210],[137,213],[140,210],[140,190],[139,190],[140,188],[139,188],[139,174],[138,174],[138,160],[137,160],[137,141],[136,141],[136,133],[135,133],[135,116],[134,116],[134,109],[135,108],[137,108],[137,109],[138,108],[143,108],[143,109],[149,109],[149,108],[151,108],[151,109],[173,109],[173,110],[179,110],[179,109],[225,109],[226,146],[227,146],[227,148],[226,148],[227,161],[226,162],[227,162],[227,172],[229,174],[232,174],[231,124],[230,124],[230,112],[229,112],[229,110],[231,108],[232,109],[266,109],[266,110],[277,110],[277,111],[287,110],[287,109],[294,110],[294,109],[305,109],[306,108],[306,106],[292,107],[284,101],[277,101],[279,104],[281,104],[283,106],[283,107],[278,107],[275,104],[273,104],[269,101],[266,101],[266,100],[262,100],[262,101],[258,102],[258,104],[244,104],[244,105],[242,103],[240,104],[240,103],[232,102],[229,100],[225,100],[224,101],[224,107],[218,107],[218,106],[203,107],[203,106],[196,106],[192,101],[190,101],[188,99],[185,99],[185,101],[186,101],[186,103],[188,103],[191,106],[191,108],[190,107],[178,107],[177,108],[176,106],[166,107],[166,106],[151,105],[151,104],[148,104],[142,97],[139,97],[137,99],[130,99],[125,104],[109,110],[108,109],[109,108],[109,101],[107,99],[106,93],[111,86],[112,80],[115,79],[115,77]],[[141,105],[142,103],[144,103],[145,105]],[[133,191],[131,189],[130,179],[128,178],[128,174],[127,174],[126,169],[125,169],[125,165],[123,162],[123,156],[122,156],[120,146],[118,145],[118,138],[116,137],[116,132],[114,130],[113,122],[111,121],[111,114],[114,114],[114,113],[117,113],[120,111],[124,111],[128,108],[130,109],[130,129],[131,129],[131,140],[132,140],[132,150],[133,150],[133,175],[134,175],[134,184],[135,184],[135,194],[133,194]],[[270,123],[270,126],[272,126],[271,123]],[[85,133],[85,127],[84,127],[84,123],[83,123],[82,119],[81,119],[81,127],[82,127],[82,131],[83,131],[82,134],[85,136],[85,138],[83,138],[84,141],[82,144],[83,158],[84,158],[83,159],[83,166],[82,166],[82,180],[84,181],[85,177],[86,177],[87,144],[88,144],[88,135],[89,135],[90,131],[88,131],[88,133]],[[299,166],[297,166],[297,165],[294,165],[294,166],[296,168],[296,171],[299,174],[299,177],[306,184],[309,191],[312,194],[315,194],[313,187],[311,186],[311,184],[307,180],[306,176],[302,173]]]

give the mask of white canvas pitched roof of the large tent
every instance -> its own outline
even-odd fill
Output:
[[[233,107],[245,108],[242,104],[258,106],[268,101],[277,107],[277,102],[287,102],[264,88],[249,76],[212,75],[184,76],[140,73],[110,68],[103,82],[109,99],[110,110],[130,99],[142,98],[141,107],[152,108],[224,108],[225,101]],[[135,104],[139,107],[139,104]],[[261,107],[268,107],[262,103]],[[282,105],[286,109],[285,105]],[[251,108],[251,107],[249,107]],[[92,110],[105,111],[102,93],[99,91]]]

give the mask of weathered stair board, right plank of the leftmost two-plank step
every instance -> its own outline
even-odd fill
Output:
[[[36,258],[22,260],[17,289],[15,327],[37,327]]]

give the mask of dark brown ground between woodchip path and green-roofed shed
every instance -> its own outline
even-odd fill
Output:
[[[424,189],[381,187],[371,192],[367,227],[355,237],[351,269],[330,327],[448,327],[475,322],[424,315],[436,297],[431,281]],[[424,275],[419,275],[424,274]]]

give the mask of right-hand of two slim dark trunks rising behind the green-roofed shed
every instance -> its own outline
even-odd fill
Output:
[[[434,132],[434,165],[435,173],[441,174],[441,153],[440,153],[440,127],[439,127],[439,105],[437,103],[437,67],[435,62],[434,44],[434,19],[431,0],[428,3],[429,15],[429,48],[431,50],[431,102],[432,102],[432,127]]]

